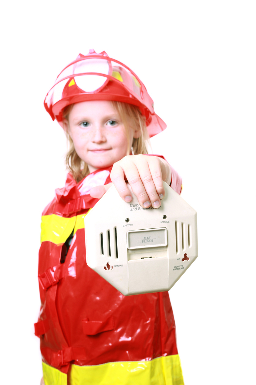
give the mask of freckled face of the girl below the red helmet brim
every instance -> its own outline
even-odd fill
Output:
[[[119,114],[107,100],[90,100],[74,104],[68,122],[63,121],[74,142],[78,156],[89,171],[110,167],[129,155],[127,135]],[[129,149],[133,130],[129,132]]]

